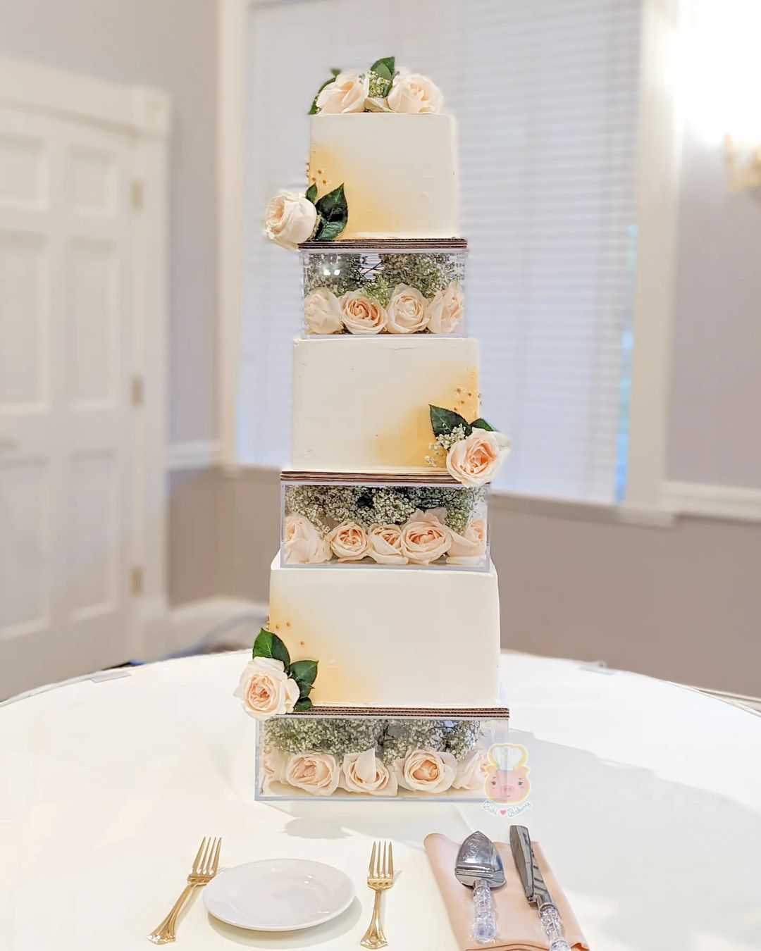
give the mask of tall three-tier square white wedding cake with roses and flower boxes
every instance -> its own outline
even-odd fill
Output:
[[[441,104],[430,80],[397,72],[390,58],[335,75],[312,106],[305,194],[281,192],[266,211],[267,237],[301,248],[304,330],[293,350],[291,468],[268,630],[237,693],[259,720],[287,715],[282,748],[287,729],[267,725],[263,769],[306,791],[379,791],[357,780],[354,760],[341,767],[341,755],[363,756],[363,774],[381,779],[385,763],[384,794],[397,792],[395,770],[400,786],[418,786],[403,779],[403,757],[392,762],[387,720],[373,750],[319,747],[348,781],[316,789],[324,763],[312,763],[300,783],[303,763],[288,765],[289,754],[303,759],[305,747],[290,717],[311,725],[346,708],[386,717],[414,708],[436,716],[440,733],[458,727],[445,712],[498,709],[484,487],[507,440],[479,415],[456,124]],[[471,773],[476,763],[474,743],[453,736],[414,750],[435,753],[434,772],[449,764],[450,785],[458,749]]]

